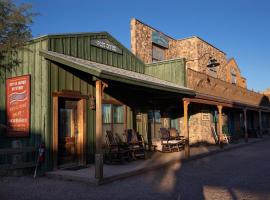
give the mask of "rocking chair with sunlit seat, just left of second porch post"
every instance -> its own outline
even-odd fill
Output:
[[[160,128],[162,152],[181,151],[185,141],[180,137],[171,137],[170,130]]]

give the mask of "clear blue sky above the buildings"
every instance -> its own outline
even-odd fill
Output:
[[[270,0],[15,0],[32,3],[33,36],[111,33],[130,48],[135,17],[176,38],[199,36],[234,57],[248,88],[270,87]]]

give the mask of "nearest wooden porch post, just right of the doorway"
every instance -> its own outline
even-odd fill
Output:
[[[96,81],[96,155],[95,178],[97,181],[103,178],[103,154],[102,154],[102,82]]]

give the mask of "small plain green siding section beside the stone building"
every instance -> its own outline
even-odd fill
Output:
[[[184,59],[175,59],[147,64],[145,73],[162,80],[186,86],[186,68]]]

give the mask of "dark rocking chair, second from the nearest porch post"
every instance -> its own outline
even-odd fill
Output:
[[[132,151],[133,159],[145,159],[145,144],[142,135],[133,129],[127,129],[125,130],[124,136],[126,138],[126,143]]]

